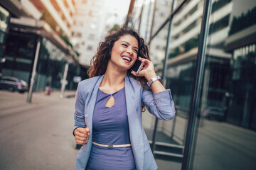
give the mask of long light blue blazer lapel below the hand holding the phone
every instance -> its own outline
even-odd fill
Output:
[[[137,97],[134,92],[137,89],[134,89],[132,86],[129,77],[125,77],[125,97],[127,103],[127,116],[129,122],[129,136],[132,144],[132,152],[134,154],[134,159],[137,169],[143,169],[144,162],[144,147],[143,147],[143,138],[142,138],[142,129],[141,123],[139,122],[138,116],[140,114],[136,111],[136,104],[134,104],[134,97]]]

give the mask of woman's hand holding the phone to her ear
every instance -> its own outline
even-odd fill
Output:
[[[141,62],[144,62],[144,66],[142,67],[141,71],[139,71],[139,74],[136,74],[135,72],[131,72],[134,77],[145,77],[148,81],[152,77],[156,77],[156,72],[154,71],[154,64],[150,60],[144,59],[142,57],[139,57],[139,60]]]

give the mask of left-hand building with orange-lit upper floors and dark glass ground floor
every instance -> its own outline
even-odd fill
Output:
[[[36,79],[36,91],[43,90],[46,83],[53,89],[60,89],[63,84],[68,89],[75,89],[73,77],[80,69],[78,56],[70,42],[75,2],[11,0],[1,1],[1,7],[9,13],[2,76],[30,82],[31,76],[35,76],[32,74],[33,62],[38,57],[36,76],[32,77]]]

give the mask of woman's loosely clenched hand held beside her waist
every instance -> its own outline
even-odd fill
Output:
[[[85,145],[90,137],[90,128],[77,128],[74,131],[75,142],[80,145]]]

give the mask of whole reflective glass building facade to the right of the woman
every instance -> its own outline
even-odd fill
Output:
[[[137,0],[176,117],[143,115],[159,169],[255,169],[256,1]]]

